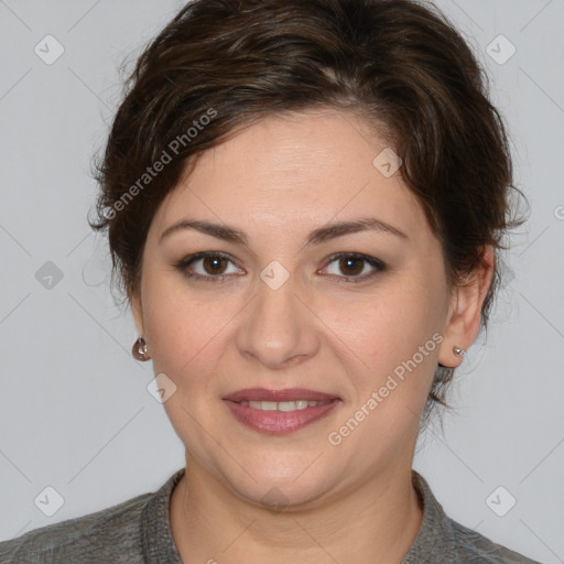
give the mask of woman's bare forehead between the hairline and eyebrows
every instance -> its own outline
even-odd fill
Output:
[[[243,229],[301,230],[377,215],[404,231],[422,229],[423,212],[400,172],[381,167],[391,151],[350,112],[268,117],[204,152],[153,224],[162,230],[189,215]]]

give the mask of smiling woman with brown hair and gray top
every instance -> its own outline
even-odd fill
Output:
[[[533,562],[412,469],[488,318],[511,162],[409,0],[196,0],[140,57],[99,217],[186,468],[1,562]]]

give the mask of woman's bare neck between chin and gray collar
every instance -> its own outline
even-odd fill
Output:
[[[422,517],[411,460],[330,501],[282,510],[242,499],[191,460],[171,499],[172,532],[184,564],[324,558],[398,564]]]

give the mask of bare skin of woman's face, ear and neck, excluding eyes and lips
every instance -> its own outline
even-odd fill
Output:
[[[416,536],[419,419],[437,362],[459,365],[453,346],[467,349],[477,337],[494,259],[487,249],[465,285],[448,286],[441,243],[416,198],[400,173],[386,177],[372,165],[386,147],[352,113],[269,117],[203,153],[156,212],[130,299],[155,375],[176,386],[164,408],[186,447],[186,475],[171,505],[185,563],[398,563]],[[364,230],[306,245],[313,229],[364,217],[406,237]],[[195,229],[160,241],[188,218],[236,226],[248,245]],[[234,257],[188,267],[224,273],[224,282],[175,268],[199,251]],[[329,262],[336,252],[375,257],[386,269]],[[278,290],[260,278],[274,260],[290,276]],[[330,444],[328,434],[434,334],[441,345]],[[341,402],[319,421],[273,436],[239,423],[221,401],[254,387],[307,388]],[[262,502],[269,491],[281,511]]]

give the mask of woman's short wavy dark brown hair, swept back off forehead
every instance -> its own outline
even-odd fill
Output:
[[[138,292],[149,226],[195,162],[188,158],[262,117],[324,107],[361,115],[400,155],[451,283],[474,271],[486,245],[496,253],[502,247],[517,225],[503,122],[481,66],[435,7],[194,0],[138,59],[98,164],[101,194],[90,225],[108,229],[121,290]],[[498,283],[499,270],[482,327]],[[427,406],[445,404],[452,377],[437,367]]]

